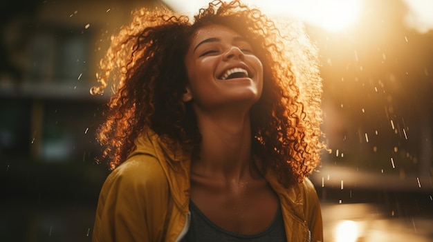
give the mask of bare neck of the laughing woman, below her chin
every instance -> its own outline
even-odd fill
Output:
[[[199,160],[192,172],[206,177],[241,181],[250,176],[251,130],[246,114],[197,115],[202,135]]]

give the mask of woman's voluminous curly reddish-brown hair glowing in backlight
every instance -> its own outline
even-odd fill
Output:
[[[277,23],[239,1],[213,1],[194,16],[166,9],[133,12],[129,26],[111,38],[93,93],[118,81],[98,140],[111,170],[125,161],[141,132],[154,130],[184,150],[199,147],[194,111],[181,99],[187,85],[185,54],[196,30],[227,26],[252,45],[264,67],[264,89],[250,110],[252,150],[262,172],[280,183],[301,182],[320,164],[322,82],[317,52],[302,25]],[[285,33],[282,32],[285,31]],[[178,147],[174,145],[173,147]]]

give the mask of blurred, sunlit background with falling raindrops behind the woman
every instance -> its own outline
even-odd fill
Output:
[[[311,180],[326,241],[433,241],[432,3],[301,2],[263,8],[305,21],[319,48],[332,152]],[[98,61],[131,10],[194,4],[1,1],[0,241],[91,241],[109,174],[95,163]]]

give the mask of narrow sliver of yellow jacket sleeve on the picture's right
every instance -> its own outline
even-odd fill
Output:
[[[311,241],[323,241],[322,210],[320,209],[319,198],[309,179],[305,179],[302,184],[304,186],[304,213],[311,232]]]

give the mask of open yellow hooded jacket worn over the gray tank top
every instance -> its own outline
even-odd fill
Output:
[[[136,146],[102,186],[93,242],[180,241],[188,230],[190,157],[170,150],[154,132]],[[281,201],[287,241],[323,241],[311,181],[284,188],[270,172],[266,179]]]

